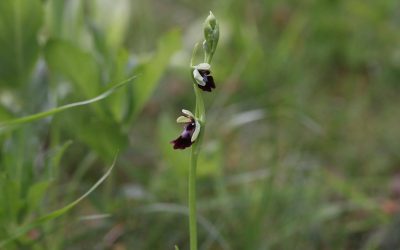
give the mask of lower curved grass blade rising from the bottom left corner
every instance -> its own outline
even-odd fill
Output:
[[[29,230],[32,230],[33,228],[38,227],[38,226],[40,226],[41,224],[43,224],[43,223],[45,223],[47,221],[54,220],[54,219],[62,216],[63,214],[67,213],[69,210],[74,208],[76,205],[78,205],[79,202],[81,202],[89,194],[91,194],[111,174],[111,171],[113,170],[116,161],[117,161],[117,156],[115,156],[114,161],[113,161],[111,167],[107,170],[107,172],[86,193],[84,193],[81,197],[79,197],[75,201],[69,203],[68,205],[64,206],[63,208],[60,208],[60,209],[58,209],[56,211],[53,211],[53,212],[51,212],[51,213],[49,213],[47,215],[44,215],[44,216],[34,220],[33,222],[29,223],[28,225],[22,226],[21,228],[19,228],[13,234],[13,236],[11,236],[10,238],[8,238],[6,240],[0,241],[0,248],[2,248],[5,245],[11,243],[12,241],[16,240],[18,237],[26,234]]]

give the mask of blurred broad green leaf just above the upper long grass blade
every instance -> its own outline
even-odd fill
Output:
[[[100,68],[91,54],[72,43],[51,40],[46,44],[44,55],[50,69],[70,80],[84,98],[99,93]]]

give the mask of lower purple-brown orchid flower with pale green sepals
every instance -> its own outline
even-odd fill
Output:
[[[194,117],[192,112],[182,109],[182,113],[183,116],[179,116],[178,119],[176,119],[176,122],[184,123],[185,126],[182,134],[175,140],[171,141],[171,143],[174,144],[174,149],[185,149],[190,147],[200,133],[200,123]]]

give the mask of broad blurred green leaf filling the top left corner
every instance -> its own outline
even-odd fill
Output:
[[[0,85],[22,84],[38,58],[40,0],[0,1]]]

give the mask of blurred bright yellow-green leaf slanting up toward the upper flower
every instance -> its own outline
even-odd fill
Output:
[[[140,72],[140,82],[134,89],[134,116],[143,108],[157,86],[168,62],[175,51],[181,47],[180,32],[176,29],[161,37],[156,56],[146,64],[137,68]]]

